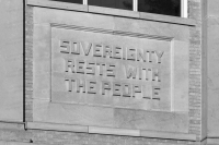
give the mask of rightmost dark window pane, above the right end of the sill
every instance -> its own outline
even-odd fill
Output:
[[[138,0],[138,11],[181,16],[181,0]]]

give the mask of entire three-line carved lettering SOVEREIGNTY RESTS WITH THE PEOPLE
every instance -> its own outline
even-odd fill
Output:
[[[160,70],[154,68],[137,68],[134,65],[126,64],[122,68],[116,67],[115,63],[108,63],[108,62],[89,62],[85,60],[78,60],[73,59],[74,55],[82,55],[82,56],[89,56],[90,50],[92,50],[93,53],[91,56],[93,57],[106,57],[106,52],[111,53],[110,59],[123,59],[124,60],[130,60],[130,61],[142,61],[142,62],[149,62],[152,63],[152,57],[155,60],[155,63],[162,63],[162,56],[164,55],[164,51],[148,51],[145,50],[143,53],[141,53],[140,49],[126,49],[120,46],[107,46],[107,48],[113,48],[111,50],[103,48],[102,44],[94,44],[94,43],[88,43],[88,41],[70,41],[70,40],[59,40],[59,48],[60,53],[70,53],[72,55],[72,59],[65,60],[66,65],[66,72],[69,73],[81,73],[85,75],[102,75],[107,77],[116,77],[116,71],[119,71],[119,69],[125,70],[125,76],[127,80],[145,80],[145,81],[154,81],[154,82],[161,82],[160,78]],[[71,44],[71,45],[70,45]],[[87,49],[84,49],[87,47]],[[106,48],[106,47],[105,47]],[[123,50],[125,49],[125,50]],[[88,51],[89,50],[89,51]],[[125,56],[123,52],[127,51],[127,56]],[[138,56],[138,57],[137,57]],[[137,59],[136,59],[137,58]],[[140,59],[141,58],[141,59]],[[99,70],[99,71],[97,71]],[[150,78],[150,80],[149,80]],[[141,89],[143,86],[138,84],[129,84],[129,83],[123,83],[123,82],[96,82],[96,81],[85,81],[85,80],[79,80],[79,78],[66,78],[68,81],[68,92],[73,92],[74,88],[72,88],[72,83],[77,84],[76,92],[77,93],[88,93],[88,94],[96,94],[96,83],[102,86],[102,92],[100,94],[105,95],[105,89],[112,92],[112,96],[122,96],[122,97],[135,97],[137,93],[141,94]],[[88,87],[85,87],[88,86]],[[160,100],[160,94],[159,90],[161,89],[160,86],[151,86],[151,96],[143,96],[141,94],[141,97],[145,99],[158,99]],[[80,90],[82,88],[82,92]]]

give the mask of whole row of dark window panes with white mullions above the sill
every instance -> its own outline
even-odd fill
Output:
[[[54,0],[187,17],[187,0]]]

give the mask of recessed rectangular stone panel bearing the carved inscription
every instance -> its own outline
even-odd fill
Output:
[[[171,110],[171,39],[51,26],[51,102]]]

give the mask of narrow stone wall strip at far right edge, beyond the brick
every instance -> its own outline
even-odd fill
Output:
[[[210,19],[209,23],[218,21]],[[219,136],[219,25],[208,26],[208,135]]]

